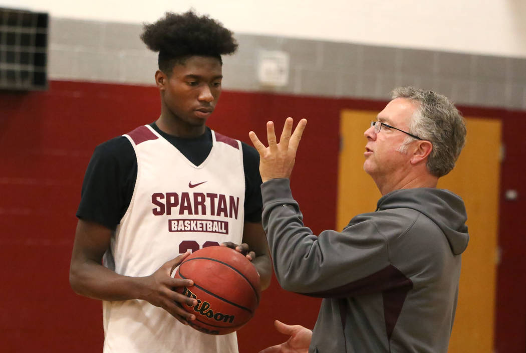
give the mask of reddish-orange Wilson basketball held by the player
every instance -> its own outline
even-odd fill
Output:
[[[183,304],[196,316],[191,327],[209,335],[226,335],[247,323],[259,305],[261,285],[254,265],[240,252],[211,246],[191,253],[177,268],[174,278],[191,279],[194,286],[177,291],[197,299]]]

